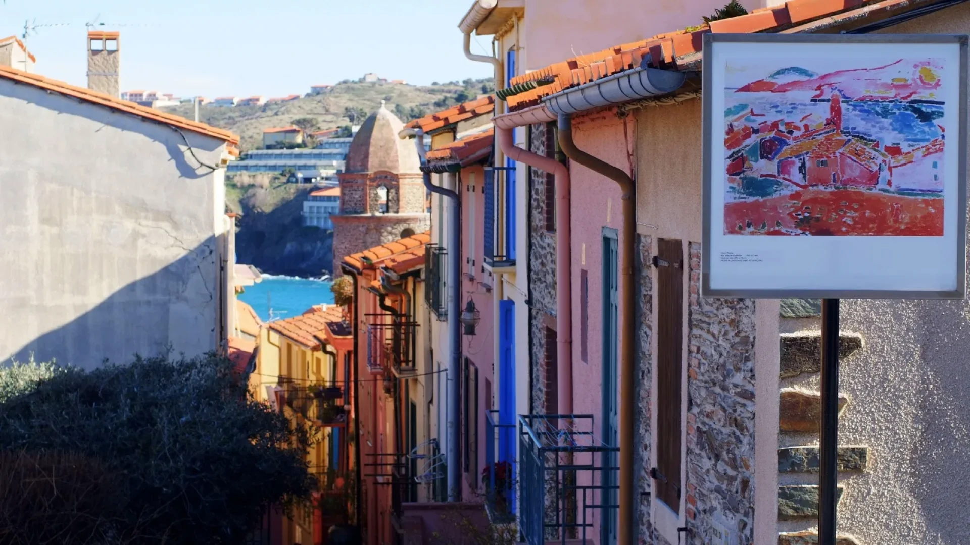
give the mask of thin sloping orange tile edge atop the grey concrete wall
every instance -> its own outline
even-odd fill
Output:
[[[45,89],[49,92],[59,93],[65,96],[74,97],[81,99],[85,102],[91,104],[97,104],[99,106],[104,106],[111,108],[119,112],[132,113],[152,121],[156,121],[165,125],[170,125],[173,127],[186,129],[199,134],[210,136],[212,138],[221,140],[230,144],[230,147],[239,145],[240,137],[237,135],[223,130],[217,129],[205,123],[199,123],[196,121],[190,121],[184,117],[179,117],[178,115],[173,115],[171,113],[161,112],[160,110],[155,110],[153,108],[146,108],[144,106],[139,106],[133,102],[128,102],[126,100],[121,100],[112,95],[106,95],[104,93],[99,93],[97,91],[92,91],[90,89],[85,89],[82,87],[75,87],[74,85],[69,85],[63,81],[49,80],[43,76],[37,74],[28,74],[15,68],[10,68],[9,66],[0,66],[0,78],[6,78],[7,80],[13,80],[17,83],[25,83],[27,85],[33,85],[35,87]]]

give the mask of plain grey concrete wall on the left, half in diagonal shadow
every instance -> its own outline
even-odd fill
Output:
[[[167,126],[8,80],[0,128],[0,358],[215,348],[223,171]],[[218,163],[222,142],[183,133]]]

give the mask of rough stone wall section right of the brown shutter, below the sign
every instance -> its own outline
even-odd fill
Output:
[[[754,542],[755,302],[702,299],[700,244],[691,242],[687,409],[688,543],[713,524]]]

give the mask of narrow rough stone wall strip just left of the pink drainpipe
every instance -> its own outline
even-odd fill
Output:
[[[549,135],[551,137],[551,135]],[[530,149],[539,155],[547,154],[551,141],[546,125],[530,127]],[[529,176],[529,291],[530,334],[532,336],[533,413],[545,412],[546,377],[545,324],[546,316],[556,316],[556,234],[545,230],[545,171],[532,168]],[[555,347],[551,347],[555,350]],[[555,384],[552,385],[555,387]]]

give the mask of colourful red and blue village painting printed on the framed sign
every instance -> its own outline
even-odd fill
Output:
[[[741,62],[727,65],[726,235],[943,236],[938,60]]]

